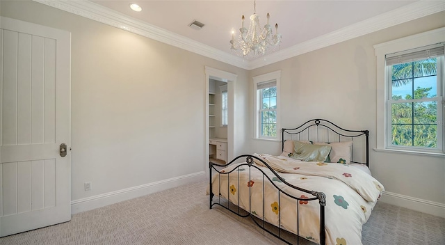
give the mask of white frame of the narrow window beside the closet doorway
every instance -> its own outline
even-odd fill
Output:
[[[281,70],[277,70],[275,72],[270,72],[266,74],[262,74],[256,77],[253,77],[253,94],[254,94],[254,139],[263,139],[263,140],[272,140],[272,141],[280,141],[281,138],[281,127],[280,127],[280,78],[281,78]],[[261,96],[259,95],[258,85],[264,83],[266,81],[275,80],[277,86],[277,135],[275,137],[261,136],[261,113],[260,110],[262,108],[262,101],[260,102]]]

